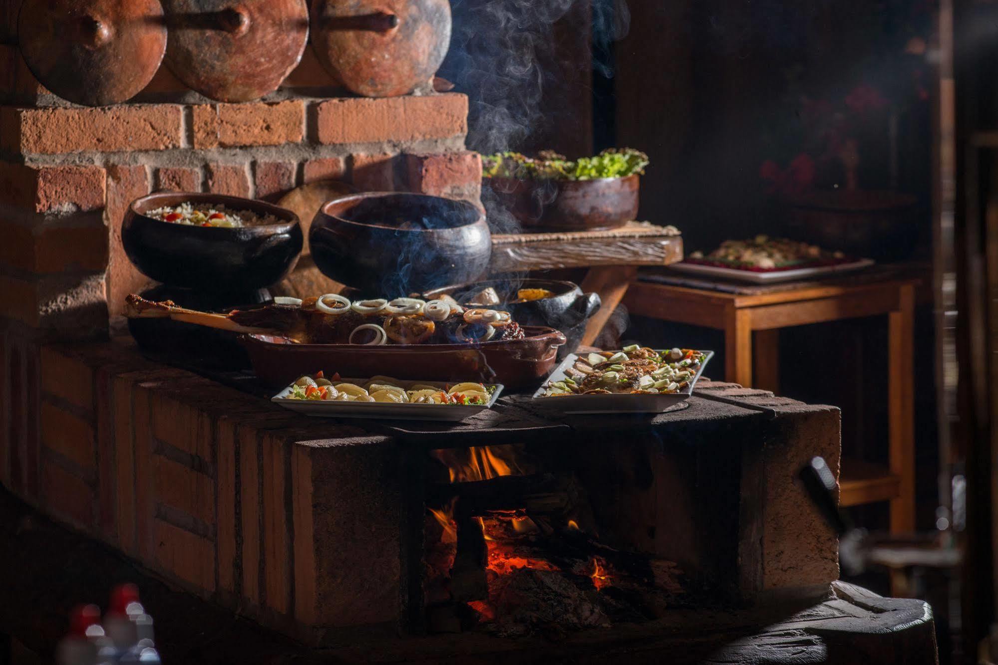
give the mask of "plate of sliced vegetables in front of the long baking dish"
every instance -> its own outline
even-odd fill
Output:
[[[319,371],[299,377],[270,401],[306,416],[456,422],[491,409],[502,389],[501,384],[473,381],[343,379]]]

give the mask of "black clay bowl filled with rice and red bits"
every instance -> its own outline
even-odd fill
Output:
[[[259,200],[160,192],[136,199],[122,244],[143,274],[170,286],[247,292],[283,279],[303,236],[296,214]]]

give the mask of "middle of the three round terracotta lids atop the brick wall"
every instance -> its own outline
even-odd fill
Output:
[[[170,70],[220,102],[272,93],[308,41],[305,0],[164,0],[163,7]]]

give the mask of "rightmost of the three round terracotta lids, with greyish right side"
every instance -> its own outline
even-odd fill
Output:
[[[428,83],[450,45],[447,0],[315,0],[312,46],[348,90],[408,95]]]

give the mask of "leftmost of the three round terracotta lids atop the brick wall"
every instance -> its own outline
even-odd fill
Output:
[[[167,47],[160,0],[25,2],[17,29],[35,78],[59,97],[92,107],[137,95]]]

